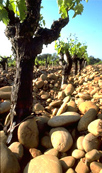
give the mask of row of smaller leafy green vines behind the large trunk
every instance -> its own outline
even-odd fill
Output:
[[[63,67],[62,84],[67,83],[67,78],[70,75],[73,63],[75,75],[78,72],[81,74],[82,68],[86,65],[86,62],[88,62],[87,46],[85,44],[80,43],[76,36],[72,38],[70,34],[67,42],[60,39],[55,42],[55,50],[57,50],[60,55],[60,64]],[[66,57],[64,57],[64,55],[66,55]]]

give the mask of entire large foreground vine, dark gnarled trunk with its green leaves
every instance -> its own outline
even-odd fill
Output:
[[[16,76],[11,96],[11,128],[15,117],[21,122],[32,112],[32,79],[34,60],[43,44],[57,40],[61,29],[69,22],[68,11],[75,17],[83,11],[82,0],[58,0],[61,18],[50,29],[41,26],[41,0],[0,0],[0,20],[6,24],[5,34],[12,44],[16,59]],[[88,1],[88,0],[86,0]]]

